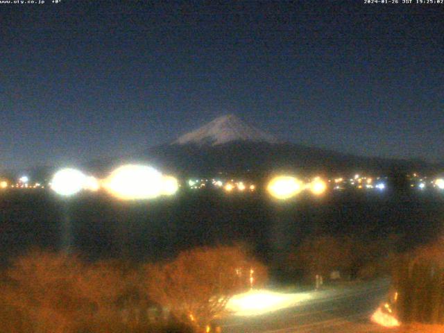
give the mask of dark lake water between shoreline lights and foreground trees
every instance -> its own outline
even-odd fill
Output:
[[[101,194],[64,200],[43,190],[5,191],[0,253],[5,262],[29,248],[58,249],[71,242],[91,259],[155,260],[198,245],[244,241],[273,261],[314,234],[401,234],[402,244],[411,248],[442,234],[443,204],[444,195],[413,192],[331,192],[277,203],[260,193],[195,191],[122,203]]]

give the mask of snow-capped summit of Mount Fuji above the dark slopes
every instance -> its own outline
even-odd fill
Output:
[[[278,143],[278,139],[248,123],[234,114],[227,114],[206,125],[179,137],[173,144],[225,144],[233,141]]]

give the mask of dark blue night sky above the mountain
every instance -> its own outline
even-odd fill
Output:
[[[0,5],[0,168],[137,151],[226,113],[444,160],[444,5],[46,3]]]

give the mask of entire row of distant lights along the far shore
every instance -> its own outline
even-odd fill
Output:
[[[21,178],[20,181],[24,182],[25,180]],[[372,178],[364,177],[361,179],[359,175],[356,175],[351,181],[357,181],[359,184],[365,182],[367,187],[371,186],[379,190],[383,190],[386,187],[383,182],[378,182],[373,186]],[[336,184],[343,182],[343,178],[336,178],[334,182]],[[234,182],[234,180],[226,182],[225,185],[221,180],[212,180],[212,183],[216,187],[223,187],[228,192],[234,189],[255,191],[255,185],[245,185],[244,182]],[[444,179],[438,178],[432,183],[439,189],[444,189]],[[1,182],[0,187],[3,186],[7,186],[7,184]],[[138,164],[127,164],[119,167],[112,171],[110,176],[104,180],[87,176],[76,169],[62,169],[53,176],[50,186],[56,193],[62,196],[71,196],[83,189],[98,191],[103,188],[123,200],[148,199],[162,195],[172,195],[178,191],[179,187],[176,178],[164,176],[153,167]],[[205,183],[200,183],[199,185],[198,180],[189,180],[189,186],[191,188],[198,188],[205,186]],[[419,187],[423,189],[425,184],[420,183]],[[268,183],[266,189],[274,198],[285,200],[296,196],[304,190],[309,190],[312,194],[319,196],[327,190],[327,183],[320,177],[305,183],[293,176],[278,176]]]

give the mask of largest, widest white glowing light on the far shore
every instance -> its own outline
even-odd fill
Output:
[[[162,194],[162,174],[152,167],[127,164],[112,171],[103,187],[122,200],[157,198]]]

